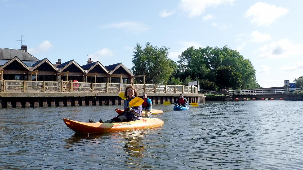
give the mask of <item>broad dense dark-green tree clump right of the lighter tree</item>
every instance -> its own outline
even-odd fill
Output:
[[[175,77],[184,81],[185,75],[189,75],[193,80],[200,80],[200,89],[260,88],[251,61],[227,46],[189,47],[178,58],[179,72]]]

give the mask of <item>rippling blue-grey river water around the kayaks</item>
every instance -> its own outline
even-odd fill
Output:
[[[1,109],[0,169],[303,169],[303,101],[154,105],[163,126],[98,135],[62,120],[107,120],[122,107]]]

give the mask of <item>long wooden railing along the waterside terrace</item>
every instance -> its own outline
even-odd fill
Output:
[[[70,81],[0,80],[1,92],[120,93],[132,84],[83,83]],[[139,93],[198,93],[197,87],[163,84],[133,84]]]

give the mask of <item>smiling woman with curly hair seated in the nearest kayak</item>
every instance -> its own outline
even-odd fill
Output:
[[[103,121],[100,119],[100,123],[117,123],[117,122],[129,122],[133,120],[140,120],[142,116],[142,105],[129,107],[129,103],[135,97],[138,97],[138,92],[132,85],[126,87],[124,92],[124,97],[126,98],[124,102],[124,112],[120,115],[110,119]],[[95,123],[91,119],[89,119],[90,123]]]

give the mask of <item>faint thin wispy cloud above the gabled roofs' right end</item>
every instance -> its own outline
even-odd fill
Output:
[[[126,31],[138,34],[149,29],[148,25],[143,24],[142,22],[119,22],[119,23],[110,23],[108,25],[102,26],[102,28],[118,28],[125,29]]]

